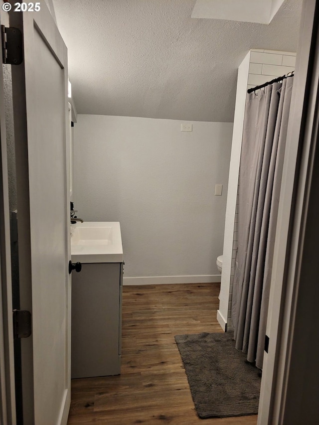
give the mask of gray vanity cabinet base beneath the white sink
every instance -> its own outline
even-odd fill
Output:
[[[72,273],[71,378],[121,373],[123,263]]]

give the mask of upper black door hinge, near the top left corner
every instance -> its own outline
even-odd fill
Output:
[[[2,62],[20,65],[23,60],[22,34],[18,28],[1,25]]]

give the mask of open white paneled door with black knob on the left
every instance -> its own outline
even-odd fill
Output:
[[[39,11],[13,8],[10,26],[22,31],[24,49],[24,62],[12,65],[20,309],[32,314],[32,334],[21,339],[23,423],[66,424],[71,358],[67,49],[44,1]]]

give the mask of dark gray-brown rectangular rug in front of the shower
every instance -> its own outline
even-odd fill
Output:
[[[233,332],[176,335],[201,419],[257,415],[261,373],[236,350]]]

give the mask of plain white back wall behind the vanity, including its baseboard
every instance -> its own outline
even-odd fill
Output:
[[[75,208],[120,221],[126,284],[220,282],[233,125],[191,124],[78,115]]]

